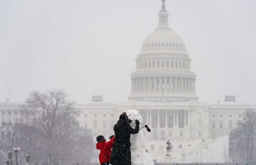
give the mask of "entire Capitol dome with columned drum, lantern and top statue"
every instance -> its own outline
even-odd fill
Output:
[[[165,0],[158,27],[142,44],[132,72],[132,101],[188,101],[196,97],[196,75],[181,37],[169,27]]]

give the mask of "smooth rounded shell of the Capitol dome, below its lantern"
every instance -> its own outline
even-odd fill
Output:
[[[170,28],[157,28],[144,40],[141,51],[154,49],[186,51],[181,37]]]

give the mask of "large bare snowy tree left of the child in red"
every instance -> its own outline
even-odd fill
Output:
[[[92,136],[87,130],[79,128],[75,121],[78,113],[74,111],[73,103],[67,101],[64,91],[31,92],[23,109],[30,125],[42,132],[33,148],[34,159],[37,160],[35,163],[40,161],[45,165],[56,165],[70,161],[90,161]],[[81,141],[84,145],[87,143],[87,149],[84,149]]]

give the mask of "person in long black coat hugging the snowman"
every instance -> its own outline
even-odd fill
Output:
[[[112,148],[110,164],[112,165],[131,165],[131,134],[139,132],[139,121],[136,120],[136,127],[133,129],[129,124],[132,122],[123,112],[117,124],[114,126],[115,143]]]

